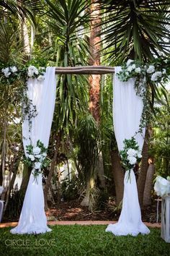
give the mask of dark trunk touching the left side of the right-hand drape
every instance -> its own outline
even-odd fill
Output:
[[[118,155],[117,150],[112,150],[110,152],[111,162],[112,162],[112,172],[113,178],[115,181],[115,189],[116,189],[116,203],[117,205],[120,204],[123,197],[123,190],[124,190],[124,171],[120,164],[120,158]]]

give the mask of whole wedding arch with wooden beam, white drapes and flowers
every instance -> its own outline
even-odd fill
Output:
[[[135,66],[134,61],[129,60],[125,67],[48,67],[44,77],[34,78],[38,74],[37,69],[29,67],[27,80],[27,96],[32,102],[22,124],[24,153],[27,161],[32,163],[32,173],[24,197],[22,212],[17,227],[11,230],[12,234],[40,234],[51,231],[47,226],[44,210],[44,197],[42,191],[41,166],[45,164],[45,156],[50,137],[50,128],[53,121],[55,106],[55,74],[108,74],[114,73],[114,129],[117,146],[120,155],[125,158],[124,195],[122,212],[118,223],[110,224],[106,231],[115,235],[133,236],[148,234],[150,231],[141,221],[138,191],[133,167],[138,158],[141,158],[145,125],[140,127],[143,116],[143,95],[145,95],[145,72],[151,75],[151,80],[161,79],[163,72],[156,71],[153,66]],[[30,75],[29,75],[30,72]],[[138,79],[136,75],[141,74]],[[154,81],[154,80],[153,80]],[[138,90],[136,93],[136,84]],[[144,85],[144,86],[143,86]],[[142,88],[142,89],[141,89]],[[145,97],[144,97],[145,99]],[[144,122],[143,122],[144,124]],[[140,130],[140,132],[139,132]],[[126,143],[132,142],[132,147]],[[127,164],[126,164],[127,163]]]

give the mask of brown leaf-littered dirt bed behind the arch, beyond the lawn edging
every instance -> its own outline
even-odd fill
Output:
[[[154,200],[151,206],[141,210],[142,220],[156,223],[157,202]],[[46,212],[48,221],[117,221],[120,216],[120,209],[113,209],[112,205],[106,205],[103,210],[90,212],[87,208],[81,207],[79,200],[61,202]],[[161,203],[159,203],[158,221],[161,219]]]

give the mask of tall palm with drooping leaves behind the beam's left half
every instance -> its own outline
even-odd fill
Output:
[[[88,1],[46,1],[48,4],[45,19],[52,39],[54,51],[50,63],[68,67],[87,63],[89,48],[82,31],[89,21]],[[55,115],[52,129],[55,130],[55,153],[53,168],[50,168],[48,182],[45,185],[45,201],[50,179],[53,176],[57,153],[63,137],[71,137],[71,130],[76,130],[80,113],[88,111],[88,80],[85,76],[71,74],[58,76]],[[58,137],[60,138],[58,141]],[[46,204],[47,205],[47,204]]]

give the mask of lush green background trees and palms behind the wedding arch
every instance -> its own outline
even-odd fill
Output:
[[[30,59],[30,63],[38,66],[115,66],[129,58],[151,61],[169,55],[169,1],[0,1],[0,13],[2,66],[9,63],[22,66]],[[29,50],[26,51],[27,46]],[[21,113],[20,98],[18,94],[14,97],[14,90],[20,90],[21,86],[4,87],[0,80],[1,183],[3,173],[9,174],[9,180],[14,182],[23,154],[21,123],[14,123]],[[153,98],[160,96],[158,88],[151,88],[151,103]],[[168,101],[161,103],[164,106],[153,119],[152,142],[148,144],[147,140],[143,148],[143,165],[138,177],[141,205],[149,145],[151,156],[155,155],[156,171],[163,169],[167,175],[169,170],[166,155],[169,135],[159,132],[162,126],[165,130],[169,124],[169,105]],[[158,119],[164,113],[167,117],[161,118],[160,124]],[[14,150],[18,146],[19,150]],[[114,195],[114,190],[117,204],[121,202],[123,171],[113,133],[111,76],[58,75],[48,157],[51,165],[45,170],[46,207],[49,188],[53,195],[60,194],[58,201],[63,197],[62,189],[57,187],[54,192],[51,184],[58,184],[58,166],[68,160],[77,171],[72,184],[79,181],[78,196],[85,189],[84,198],[91,210],[97,198],[104,195],[102,198],[107,200],[109,195]],[[24,181],[25,176],[22,184],[27,184]],[[12,196],[10,191],[8,195]]]

